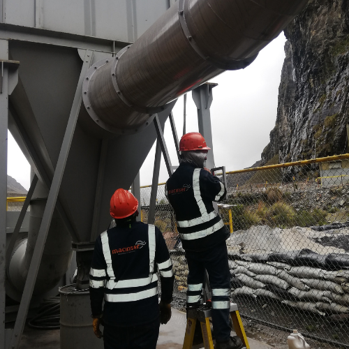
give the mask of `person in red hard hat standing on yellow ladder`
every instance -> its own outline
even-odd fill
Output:
[[[181,138],[182,161],[168,179],[165,194],[176,214],[179,238],[186,251],[187,309],[201,302],[206,270],[212,289],[211,315],[216,349],[240,349],[244,347],[242,340],[230,337],[230,270],[225,244],[230,232],[212,204],[223,200],[227,190],[218,177],[205,168],[209,149],[198,132]]]

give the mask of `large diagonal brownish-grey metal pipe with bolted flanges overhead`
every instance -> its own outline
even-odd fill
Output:
[[[84,105],[111,132],[137,132],[151,114],[224,70],[245,68],[308,0],[179,0],[114,59],[91,67]]]

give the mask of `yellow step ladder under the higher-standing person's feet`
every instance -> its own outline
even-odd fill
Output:
[[[237,304],[230,303],[230,316],[232,317],[232,326],[237,336],[242,340],[246,349],[250,349],[248,345],[244,325],[240,318]],[[211,317],[211,309],[190,309],[188,311],[188,320],[186,322],[186,335],[184,336],[183,349],[193,349],[194,332],[197,322],[200,322],[202,338],[204,339],[205,349],[214,349],[214,341],[212,340],[211,327],[209,326],[209,318]],[[195,348],[202,348],[195,346]]]

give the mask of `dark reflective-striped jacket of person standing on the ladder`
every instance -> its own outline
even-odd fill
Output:
[[[176,214],[184,249],[197,251],[209,248],[212,243],[229,237],[228,230],[212,205],[212,201],[221,201],[226,195],[226,189],[218,177],[190,163],[181,163],[168,179],[165,195]]]

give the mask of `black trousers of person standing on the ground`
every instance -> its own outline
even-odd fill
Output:
[[[104,349],[156,349],[160,320],[140,326],[117,327],[105,324]]]

